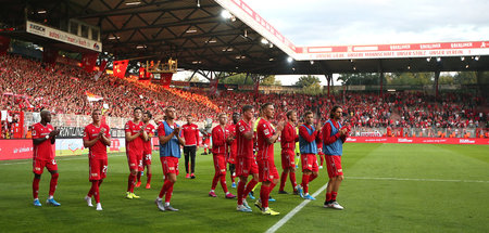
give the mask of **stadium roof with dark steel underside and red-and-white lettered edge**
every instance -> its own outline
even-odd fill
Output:
[[[241,0],[1,2],[2,23],[25,24],[24,12],[54,27],[78,20],[100,27],[103,51],[117,59],[173,57],[185,69],[275,75],[489,70],[489,41],[296,47]]]

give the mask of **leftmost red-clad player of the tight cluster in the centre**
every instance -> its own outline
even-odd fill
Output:
[[[226,114],[220,114],[220,125],[212,129],[212,157],[214,159],[215,174],[212,180],[209,196],[217,197],[215,195],[215,186],[221,181],[221,186],[226,194],[226,198],[235,198],[236,196],[229,193],[226,184],[226,152],[228,144],[233,141],[233,138],[229,135],[229,130],[226,129]]]

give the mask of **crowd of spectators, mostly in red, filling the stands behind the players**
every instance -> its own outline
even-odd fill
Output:
[[[88,101],[87,92],[102,98]],[[258,94],[254,92],[217,91],[191,88],[165,89],[137,77],[124,79],[105,75],[95,80],[93,74],[74,66],[47,66],[18,55],[0,56],[1,108],[9,112],[39,112],[89,115],[103,108],[109,117],[131,117],[135,106],[149,109],[161,120],[164,107],[173,105],[179,116],[192,115],[196,121],[215,119],[218,113],[240,112],[244,104],[256,109],[266,102],[275,105],[275,119],[285,119],[287,111],[299,116],[305,111],[318,114],[323,122],[329,108],[343,107],[344,119],[358,128],[487,128],[489,114],[481,111],[482,100],[472,94],[442,94],[437,101],[424,92],[378,93],[348,92],[336,95],[298,93]],[[2,126],[8,128],[7,126]]]

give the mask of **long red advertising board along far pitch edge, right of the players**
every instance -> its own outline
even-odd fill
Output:
[[[472,144],[489,145],[489,139],[461,138],[371,138],[350,137],[347,142],[353,143],[401,143],[401,144]]]

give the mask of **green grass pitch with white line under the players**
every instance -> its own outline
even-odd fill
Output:
[[[279,145],[276,165],[281,172]],[[45,205],[50,174],[45,170],[39,199],[33,206],[30,160],[0,161],[0,232],[265,232],[303,199],[272,193],[271,207],[280,216],[236,211],[236,199],[208,196],[214,174],[211,155],[197,156],[197,179],[185,179],[184,158],[172,205],[161,212],[154,199],[162,186],[158,152],[153,153],[152,189],[136,190],[140,199],[126,199],[127,161],[109,156],[101,186],[103,211],[87,207],[87,156],[59,157],[55,198]],[[346,180],[338,202],[344,210],[323,208],[325,192],[290,218],[277,232],[487,232],[489,229],[489,147],[487,145],[346,144]],[[297,173],[298,181],[301,173]],[[146,181],[146,177],[142,178]],[[229,178],[227,177],[230,186]],[[327,172],[310,185],[311,193],[327,182]],[[236,189],[229,189],[236,194]],[[291,191],[287,182],[286,191]],[[249,200],[251,204],[252,202]]]

